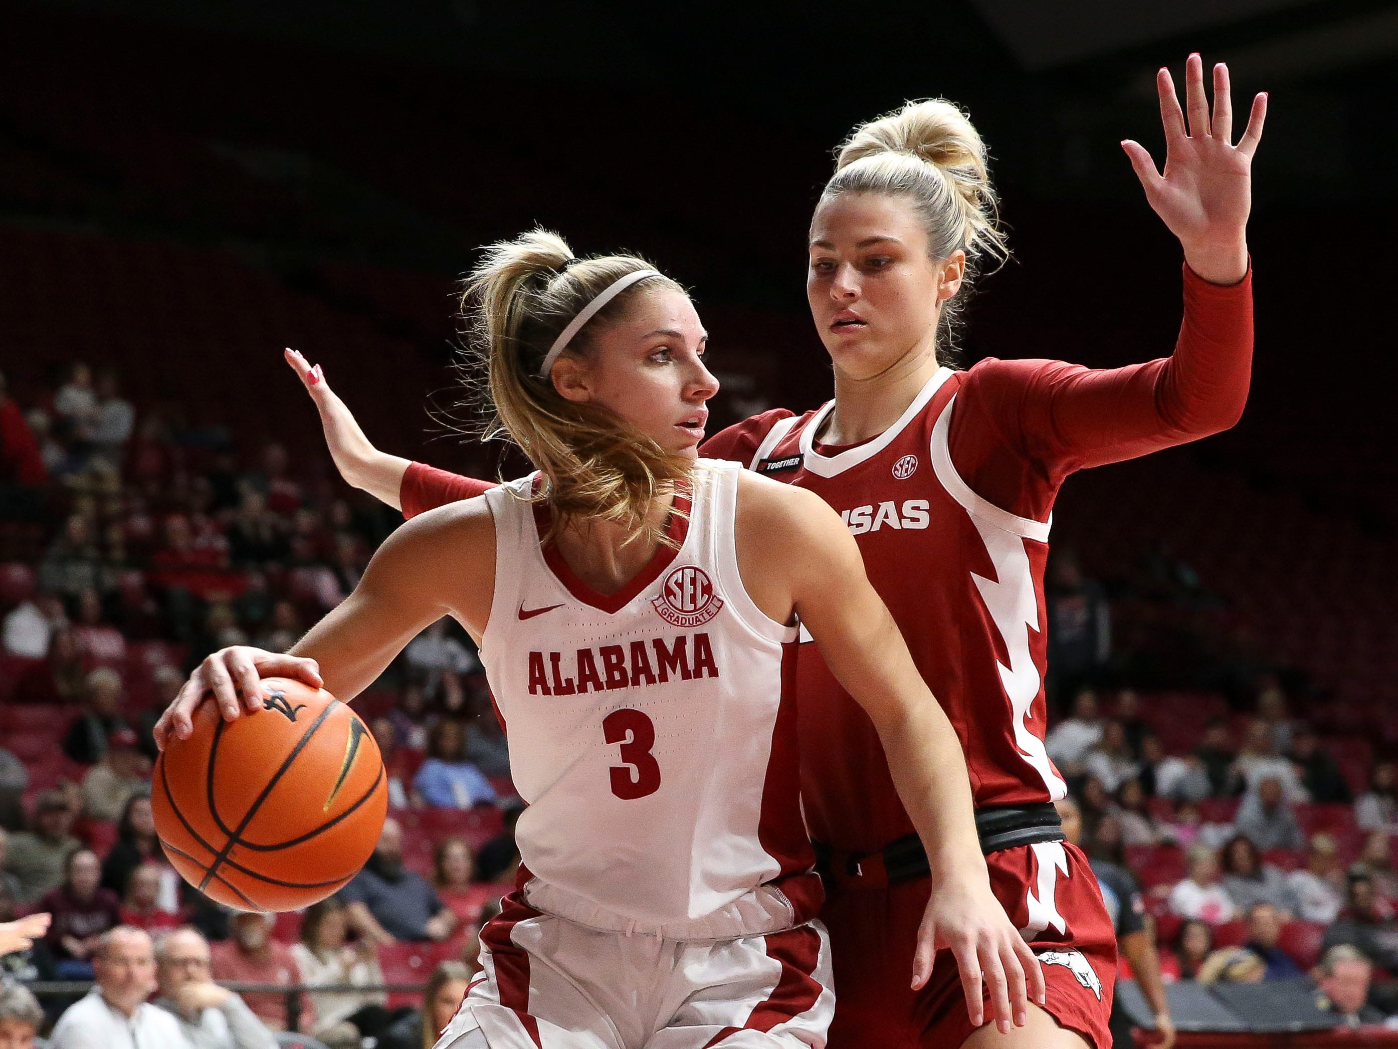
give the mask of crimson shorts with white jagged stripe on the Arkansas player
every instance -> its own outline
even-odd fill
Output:
[[[1040,842],[986,857],[990,884],[1043,966],[1044,1008],[1095,1049],[1111,1049],[1107,1018],[1117,940],[1086,856]],[[837,1007],[830,1049],[955,1049],[974,1028],[956,961],[937,955],[932,978],[911,990],[913,950],[930,891],[927,878],[861,888],[846,883],[826,899]],[[986,1018],[993,1020],[990,994]]]

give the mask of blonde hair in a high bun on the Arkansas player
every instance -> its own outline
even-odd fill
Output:
[[[946,301],[938,324],[948,336],[980,264],[1009,257],[986,143],[970,117],[946,99],[907,102],[856,127],[839,147],[821,200],[843,193],[906,197],[917,210],[932,259],[966,252],[963,291]]]

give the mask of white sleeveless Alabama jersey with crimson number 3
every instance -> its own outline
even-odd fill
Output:
[[[481,659],[528,808],[516,841],[528,904],[675,940],[774,932],[815,916],[800,810],[795,628],[738,576],[735,463],[700,459],[688,509],[619,593],[579,579],[541,536],[530,476],[485,494],[495,599]]]

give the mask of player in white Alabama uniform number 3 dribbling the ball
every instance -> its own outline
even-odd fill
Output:
[[[467,298],[496,421],[537,471],[407,523],[291,655],[210,656],[157,738],[187,736],[210,694],[228,719],[260,706],[263,674],[352,698],[454,615],[530,807],[517,890],[439,1046],[823,1046],[800,617],[878,726],[930,857],[913,985],[951,950],[967,1003],[984,976],[1002,1029],[1023,1024],[1043,978],[990,891],[956,734],[839,516],[696,457],[719,383],[685,292],[639,259],[577,260],[534,232],[491,248]]]

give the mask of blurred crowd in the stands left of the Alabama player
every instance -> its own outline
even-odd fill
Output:
[[[0,959],[0,1034],[29,1017],[57,1021],[56,1046],[94,1043],[89,999],[48,997],[43,1017],[20,989],[95,979],[116,987],[102,1008],[130,1000],[126,1022],[157,1024],[155,1043],[180,1045],[138,1021],[158,1006],[190,1045],[263,1046],[287,996],[212,982],[243,980],[340,987],[296,1004],[333,1048],[431,1045],[517,864],[509,754],[460,628],[429,627],[356,704],[394,814],[333,899],[228,913],[165,860],[150,800],[151,730],[187,673],[226,645],[288,649],[354,589],[391,515],[294,473],[275,442],[243,466],[226,435],[137,413],[116,373],[78,364],[25,406],[0,376],[0,922],[52,915]],[[375,990],[429,973],[425,1008]],[[212,1042],[196,1029],[208,1010]]]

